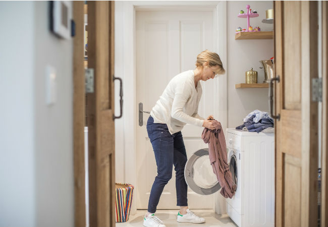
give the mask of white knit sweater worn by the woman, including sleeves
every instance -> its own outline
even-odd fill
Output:
[[[186,124],[203,126],[204,119],[197,113],[202,87],[198,81],[195,88],[194,76],[189,70],[172,78],[150,112],[154,123],[167,124],[171,134]]]

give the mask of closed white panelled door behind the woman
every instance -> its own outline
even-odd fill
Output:
[[[205,49],[213,50],[213,42],[212,12],[137,11],[136,102],[142,102],[143,109],[150,110],[169,81],[180,72],[194,69],[197,54]],[[203,118],[211,114],[215,117],[217,78],[201,83],[203,94],[198,113]],[[143,126],[137,126],[136,131],[137,209],[147,209],[151,186],[157,175],[145,127],[148,117],[149,114],[143,114]],[[202,130],[192,125],[186,125],[182,130],[188,158],[195,151],[208,147],[201,139]],[[176,204],[173,169],[172,179],[165,186],[157,209],[176,209]],[[188,188],[188,205],[194,209],[212,209],[214,195],[198,195]]]

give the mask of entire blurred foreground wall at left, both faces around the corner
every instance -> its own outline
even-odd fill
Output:
[[[1,2],[0,226],[73,226],[72,41],[48,28],[49,2]],[[45,66],[57,102],[45,104]]]

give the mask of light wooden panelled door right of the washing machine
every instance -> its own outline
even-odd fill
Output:
[[[276,226],[317,226],[317,2],[277,1]]]

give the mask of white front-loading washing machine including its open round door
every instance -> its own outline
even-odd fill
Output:
[[[239,226],[275,225],[274,133],[226,130],[227,159],[235,195],[226,199],[226,210]],[[209,195],[221,189],[209,161],[208,148],[197,150],[185,166],[187,185]]]

